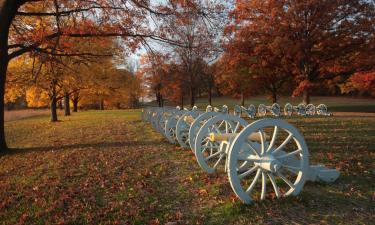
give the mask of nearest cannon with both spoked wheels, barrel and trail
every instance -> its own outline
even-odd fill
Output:
[[[260,177],[263,200],[268,180],[276,197],[285,197],[299,194],[307,180],[333,182],[339,176],[337,170],[309,165],[303,136],[281,119],[247,124],[235,116],[217,115],[200,128],[195,156],[207,173],[223,165],[233,191],[245,203],[257,196],[252,192]]]

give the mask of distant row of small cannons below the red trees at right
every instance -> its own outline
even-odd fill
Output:
[[[242,113],[245,113],[250,118],[255,118],[256,115],[258,115],[259,117],[264,117],[267,114],[270,114],[275,117],[279,117],[282,115],[281,107],[277,103],[274,103],[271,106],[260,104],[258,106],[258,111],[254,105],[250,105],[248,108],[236,105],[234,107],[234,114],[241,115]],[[300,103],[297,106],[293,106],[290,103],[286,103],[284,106],[283,114],[284,116],[292,116],[293,114],[296,114],[299,116],[314,116],[314,115],[331,116],[332,115],[331,113],[328,112],[328,108],[325,104],[319,104],[318,106],[315,106],[313,104],[305,105],[304,103]]]

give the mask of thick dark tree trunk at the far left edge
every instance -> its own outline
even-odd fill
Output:
[[[0,0],[0,152],[6,151],[8,149],[4,130],[4,95],[6,74],[9,63],[9,28],[14,16],[16,15],[17,9],[22,4],[24,4],[24,2],[20,0]]]

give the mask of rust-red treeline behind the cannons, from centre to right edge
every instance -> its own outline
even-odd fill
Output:
[[[220,4],[219,4],[220,5]],[[372,1],[237,0],[209,18],[180,5],[160,23],[182,46],[150,49],[140,77],[149,96],[194,105],[195,98],[280,95],[375,96]],[[218,8],[223,11],[215,11]]]

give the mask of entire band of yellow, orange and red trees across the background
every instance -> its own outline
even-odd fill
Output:
[[[11,40],[26,40],[22,31],[28,27],[35,30],[27,33],[30,40],[49,37],[42,34],[56,26],[69,35],[43,39],[9,62],[8,109],[49,107],[57,121],[58,107],[70,115],[70,107],[134,108],[141,99],[193,106],[197,97],[211,104],[212,96],[221,95],[242,104],[261,94],[272,102],[300,96],[305,103],[310,95],[375,96],[373,1],[194,0],[158,7],[135,1],[128,14],[119,9],[128,20],[116,22],[119,15],[107,12],[107,23],[95,13],[74,18],[72,10],[46,18],[35,11],[56,6],[43,2],[27,5],[30,17],[16,20]],[[81,7],[76,10],[86,12]],[[149,17],[142,10],[153,19],[152,34],[144,35]],[[127,33],[119,27],[125,23]],[[129,33],[133,28],[138,33]],[[126,59],[140,46],[146,51],[134,68]]]

